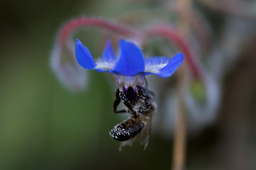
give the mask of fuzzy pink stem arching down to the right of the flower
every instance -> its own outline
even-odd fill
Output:
[[[202,68],[198,64],[197,58],[192,50],[186,44],[185,40],[174,30],[167,26],[154,26],[146,30],[148,36],[161,36],[167,38],[173,42],[184,53],[185,60],[188,62],[191,68],[192,74],[196,78],[200,78],[202,75]]]

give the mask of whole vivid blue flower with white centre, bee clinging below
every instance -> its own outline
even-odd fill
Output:
[[[98,72],[108,71],[117,75],[117,83],[125,87],[135,87],[144,84],[144,76],[155,74],[160,77],[171,76],[183,62],[183,54],[177,53],[171,57],[149,57],[144,59],[141,49],[134,43],[119,40],[120,55],[115,56],[111,41],[100,59],[94,61],[89,49],[79,39],[76,40],[75,55],[77,62],[86,69]]]

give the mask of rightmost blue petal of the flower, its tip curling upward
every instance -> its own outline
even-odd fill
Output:
[[[161,61],[161,58],[162,57],[159,57],[159,59],[157,59],[157,60],[156,59],[150,59],[149,61],[155,60],[156,62],[159,62],[159,61]],[[162,60],[168,61],[165,57],[162,58]],[[164,77],[164,78],[169,77],[183,63],[183,60],[184,60],[183,54],[182,53],[177,53],[171,60],[169,60],[169,62],[166,66],[164,66],[163,68],[158,70],[158,73],[148,72],[148,73],[144,73],[144,75],[155,74],[155,75],[158,75],[158,76]]]

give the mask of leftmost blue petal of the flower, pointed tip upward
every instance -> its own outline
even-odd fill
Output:
[[[83,68],[92,70],[96,66],[89,49],[79,39],[76,39],[75,55],[77,62]]]

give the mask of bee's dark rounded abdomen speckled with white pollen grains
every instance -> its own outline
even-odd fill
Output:
[[[133,116],[116,125],[114,129],[109,132],[110,136],[118,141],[127,141],[134,138],[144,128],[143,122],[136,118],[136,116]]]

